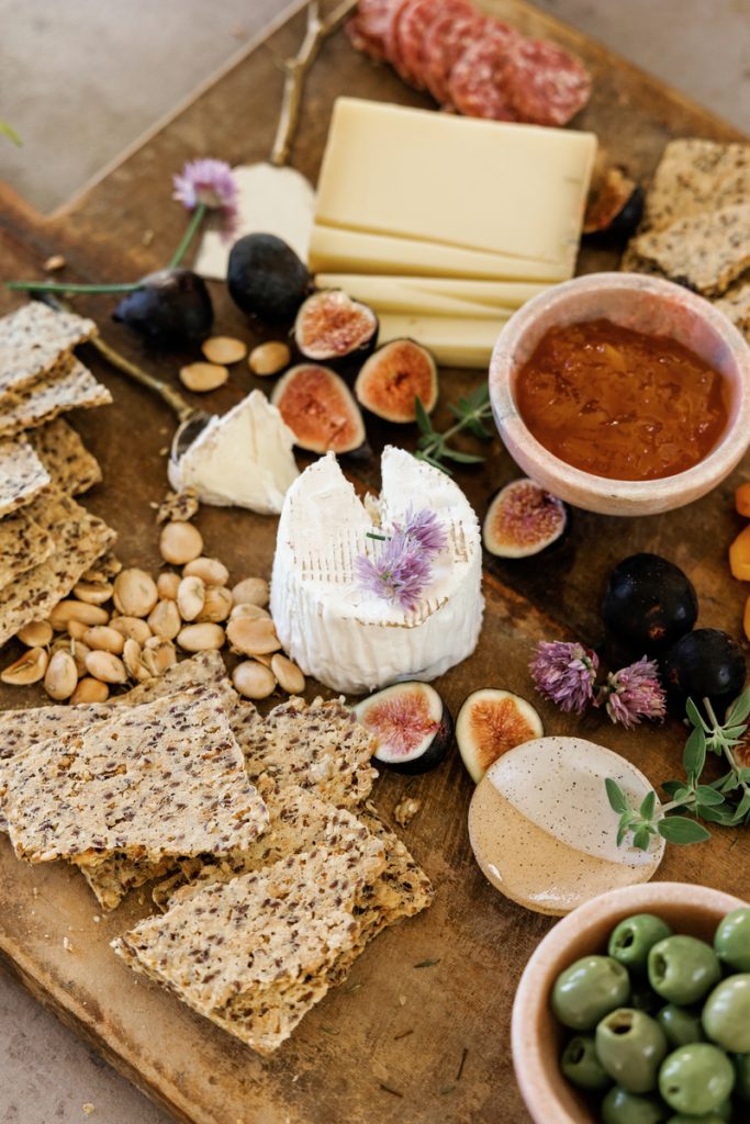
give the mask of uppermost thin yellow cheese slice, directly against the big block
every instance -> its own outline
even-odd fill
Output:
[[[406,273],[541,282],[567,281],[575,268],[572,259],[554,264],[320,224],[313,226],[308,264],[313,273]]]

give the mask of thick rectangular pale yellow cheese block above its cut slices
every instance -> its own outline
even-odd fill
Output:
[[[338,98],[315,221],[569,264],[593,133]]]

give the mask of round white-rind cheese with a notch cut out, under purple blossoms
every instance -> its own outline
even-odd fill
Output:
[[[484,613],[477,516],[450,477],[387,446],[382,490],[367,506],[333,453],[302,472],[287,492],[271,578],[279,640],[302,671],[359,695],[399,679],[434,679],[475,650]],[[362,588],[355,562],[376,559],[407,509],[434,511],[448,545],[433,580],[407,611]]]

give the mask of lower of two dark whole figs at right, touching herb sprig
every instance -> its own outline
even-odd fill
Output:
[[[696,628],[680,636],[663,659],[667,707],[684,717],[688,698],[701,709],[707,698],[721,720],[743,689],[747,674],[744,653],[735,640],[720,628]]]

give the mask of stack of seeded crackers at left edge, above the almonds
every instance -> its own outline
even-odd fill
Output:
[[[92,320],[29,302],[0,317],[0,644],[45,617],[115,541],[75,502],[99,465],[60,414],[111,396],[73,355]]]

